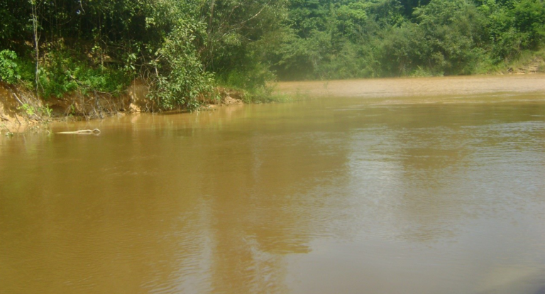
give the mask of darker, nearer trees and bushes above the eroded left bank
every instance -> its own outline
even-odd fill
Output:
[[[0,80],[48,99],[140,78],[164,109],[192,109],[214,77],[264,87],[285,15],[283,0],[3,0]]]

